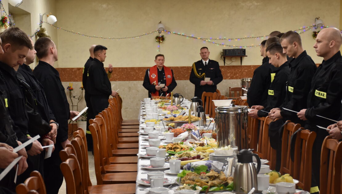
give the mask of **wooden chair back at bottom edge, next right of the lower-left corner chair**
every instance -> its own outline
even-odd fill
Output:
[[[68,158],[65,162],[62,162],[61,170],[65,179],[67,194],[85,193],[83,190],[81,168],[76,156],[74,158]]]

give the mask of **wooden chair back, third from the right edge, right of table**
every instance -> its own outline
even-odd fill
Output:
[[[301,126],[300,124],[291,123],[291,121],[284,126],[281,141],[281,164],[280,164],[280,174],[290,174],[293,176],[294,164],[290,157],[291,148],[291,136],[295,131],[297,131]]]

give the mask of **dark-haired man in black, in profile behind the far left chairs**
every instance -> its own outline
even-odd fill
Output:
[[[114,97],[116,95],[116,92],[111,90],[110,81],[103,66],[106,53],[107,47],[96,45],[94,59],[88,69],[87,87],[91,95],[90,102],[94,117],[108,107],[109,96]]]

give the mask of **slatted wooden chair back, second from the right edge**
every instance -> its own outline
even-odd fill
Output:
[[[295,141],[293,178],[298,179],[298,187],[308,192],[311,188],[312,147],[315,138],[315,131],[301,130]]]

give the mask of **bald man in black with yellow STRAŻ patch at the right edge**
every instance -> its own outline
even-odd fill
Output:
[[[340,46],[342,36],[340,30],[336,28],[325,28],[317,34],[314,45],[317,56],[323,57],[323,62],[317,68],[311,79],[311,89],[307,97],[307,109],[302,109],[297,113],[301,120],[307,121],[305,128],[315,131],[317,136],[313,146],[313,178],[319,187],[319,167],[321,147],[323,140],[328,136],[326,130],[319,129],[318,126],[327,127],[335,122],[341,114],[342,99],[342,59]],[[324,116],[324,119],[319,116]],[[312,188],[313,192],[318,192],[318,188]]]

